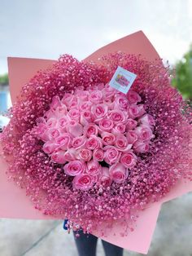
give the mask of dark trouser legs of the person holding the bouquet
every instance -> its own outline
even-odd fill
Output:
[[[76,238],[76,233],[79,233],[80,236]],[[96,256],[96,246],[98,237],[91,234],[84,234],[82,231],[73,232],[76,241],[76,248],[78,250],[79,256]],[[103,248],[106,256],[123,256],[123,248],[119,246],[112,245],[106,241],[103,241]]]

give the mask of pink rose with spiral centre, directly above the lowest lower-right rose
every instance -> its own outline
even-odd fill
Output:
[[[103,148],[104,150],[104,160],[107,164],[112,165],[119,161],[120,159],[120,152],[114,146],[106,146]]]

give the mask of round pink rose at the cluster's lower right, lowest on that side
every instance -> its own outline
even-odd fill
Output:
[[[123,183],[128,178],[128,170],[120,163],[109,168],[110,178],[116,183]]]

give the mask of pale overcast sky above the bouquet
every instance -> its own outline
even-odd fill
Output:
[[[175,63],[192,42],[192,0],[0,0],[0,73],[7,56],[81,60],[137,30]]]

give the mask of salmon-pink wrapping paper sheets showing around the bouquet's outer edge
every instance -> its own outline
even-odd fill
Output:
[[[112,42],[107,46],[103,46],[92,55],[89,55],[84,61],[94,60],[95,62],[98,62],[98,58],[101,55],[114,51],[141,54],[146,60],[155,60],[159,58],[159,55],[151,45],[151,42],[149,42],[142,31],[139,31],[125,38],[121,38],[116,42]],[[12,103],[15,102],[16,95],[20,94],[20,88],[24,83],[28,82],[39,69],[48,68],[53,62],[54,60],[8,58]],[[55,219],[54,217],[44,215],[33,208],[32,202],[29,201],[28,196],[25,196],[24,189],[18,188],[15,183],[8,181],[8,174],[6,174],[7,169],[7,163],[1,156],[0,145],[0,217]],[[116,223],[116,227],[114,227],[113,231],[108,234],[107,237],[102,237],[103,240],[119,245],[124,249],[147,254],[162,203],[190,191],[192,191],[192,183],[184,182],[184,180],[182,180],[181,183],[178,183],[177,186],[162,199],[162,201],[150,205],[146,210],[139,213],[137,227],[134,232],[129,232],[129,235],[124,237],[114,236],[113,232],[120,232],[120,225]],[[94,232],[94,235],[97,236],[97,233]]]

